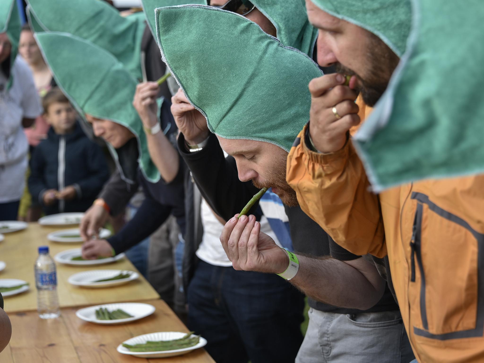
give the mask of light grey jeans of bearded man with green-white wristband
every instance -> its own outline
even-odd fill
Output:
[[[309,309],[296,363],[409,363],[413,356],[399,311],[326,313]]]

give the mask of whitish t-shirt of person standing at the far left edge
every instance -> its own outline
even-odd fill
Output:
[[[14,80],[0,72],[0,203],[19,200],[25,187],[29,143],[22,119],[42,113],[39,95],[27,63],[17,56],[10,70]]]

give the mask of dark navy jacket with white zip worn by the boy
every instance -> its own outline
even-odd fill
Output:
[[[86,211],[109,178],[101,148],[89,140],[77,122],[74,131],[66,135],[49,129],[47,139],[35,148],[30,170],[30,194],[45,214]],[[76,188],[76,198],[44,205],[45,190],[61,190],[69,185]]]

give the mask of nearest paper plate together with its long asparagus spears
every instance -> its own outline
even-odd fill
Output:
[[[188,353],[206,344],[206,339],[193,332],[159,332],[135,336],[122,342],[117,350],[139,358],[166,358]]]

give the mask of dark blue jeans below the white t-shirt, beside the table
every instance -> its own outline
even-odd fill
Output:
[[[217,363],[294,363],[304,296],[275,274],[197,265],[188,287],[188,327]]]

